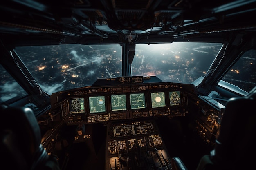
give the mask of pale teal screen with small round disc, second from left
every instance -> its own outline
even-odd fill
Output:
[[[105,96],[89,97],[90,113],[105,112]]]

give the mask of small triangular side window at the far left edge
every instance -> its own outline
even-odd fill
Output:
[[[0,65],[0,72],[0,103],[27,95],[27,92],[11,77],[2,65]]]

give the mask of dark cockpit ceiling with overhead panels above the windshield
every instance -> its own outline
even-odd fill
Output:
[[[12,0],[1,2],[0,11],[1,33],[79,40],[92,35],[124,42],[132,34],[138,41],[149,34],[223,37],[225,31],[256,29],[255,0]]]

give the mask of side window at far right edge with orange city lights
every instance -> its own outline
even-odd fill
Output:
[[[230,86],[223,81],[228,82]],[[256,86],[256,50],[246,51],[218,85],[232,88],[234,91],[251,91]]]

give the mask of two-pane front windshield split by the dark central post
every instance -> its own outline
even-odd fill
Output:
[[[157,76],[164,82],[191,83],[204,76],[220,43],[137,44],[132,76]],[[99,78],[122,76],[121,46],[63,44],[16,47],[48,94],[90,86]]]

